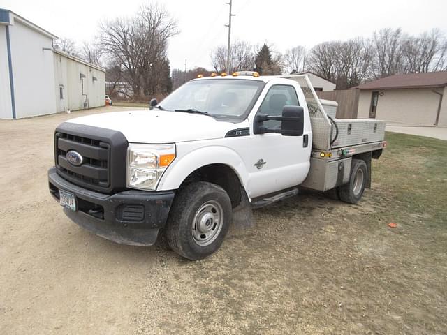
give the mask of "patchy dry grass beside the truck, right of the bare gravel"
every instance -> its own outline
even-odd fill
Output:
[[[256,210],[254,228],[232,228],[211,258],[186,262],[163,251],[154,285],[166,294],[149,293],[140,329],[446,334],[447,142],[386,140],[357,205],[302,192]]]

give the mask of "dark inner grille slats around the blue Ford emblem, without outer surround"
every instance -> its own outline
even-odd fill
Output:
[[[82,183],[103,188],[110,186],[110,144],[61,132],[56,133],[56,140],[57,165],[60,172]],[[67,161],[66,154],[71,150],[81,154],[82,165],[74,166]]]

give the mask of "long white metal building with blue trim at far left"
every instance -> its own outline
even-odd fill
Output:
[[[0,119],[105,105],[105,70],[53,50],[55,39],[0,8]]]

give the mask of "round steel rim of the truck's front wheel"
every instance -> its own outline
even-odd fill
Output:
[[[193,219],[193,239],[199,246],[209,246],[219,236],[223,226],[223,209],[219,202],[202,204]]]

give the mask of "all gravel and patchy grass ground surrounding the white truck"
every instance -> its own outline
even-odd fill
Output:
[[[447,334],[446,142],[388,134],[359,205],[302,193],[190,262],[50,197],[55,126],[103,110],[0,121],[0,334]]]

